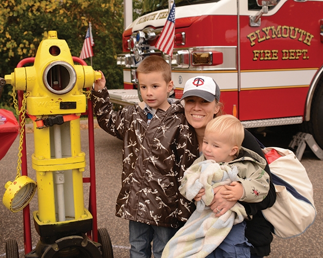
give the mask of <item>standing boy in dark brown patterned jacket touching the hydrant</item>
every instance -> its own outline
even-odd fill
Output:
[[[92,101],[100,127],[123,140],[116,215],[129,220],[130,257],[150,257],[154,241],[158,258],[195,209],[178,187],[184,171],[198,156],[198,144],[180,102],[167,101],[173,81],[164,59],[145,58],[137,73],[144,105],[113,111],[103,73],[102,80],[94,84]]]

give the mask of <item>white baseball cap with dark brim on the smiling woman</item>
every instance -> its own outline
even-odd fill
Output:
[[[181,100],[188,96],[198,96],[208,102],[213,102],[215,98],[217,101],[220,101],[220,88],[213,78],[196,76],[190,78],[185,83]]]

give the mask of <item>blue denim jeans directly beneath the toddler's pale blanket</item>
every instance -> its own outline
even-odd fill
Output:
[[[250,258],[250,246],[244,236],[245,222],[232,227],[223,242],[206,258]]]

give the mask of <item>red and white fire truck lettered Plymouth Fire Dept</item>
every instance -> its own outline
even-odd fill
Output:
[[[224,111],[245,128],[304,123],[323,148],[322,0],[175,0],[171,59],[155,48],[168,2],[143,2],[117,59],[125,89],[137,88],[140,61],[160,54],[172,63],[176,98],[188,78],[211,76]]]

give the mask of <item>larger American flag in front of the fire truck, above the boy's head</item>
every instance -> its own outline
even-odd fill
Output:
[[[157,49],[173,57],[175,35],[175,1],[170,9],[166,24],[159,35],[158,41],[155,45]]]

